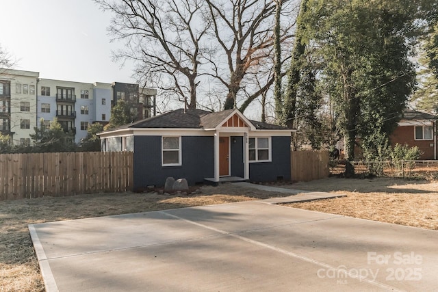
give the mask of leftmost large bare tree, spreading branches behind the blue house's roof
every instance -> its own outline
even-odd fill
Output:
[[[202,40],[209,26],[203,17],[203,0],[94,0],[114,17],[110,34],[125,40],[126,48],[116,59],[133,59],[144,83],[153,81],[164,92],[180,100],[190,96],[196,107],[199,59]]]

